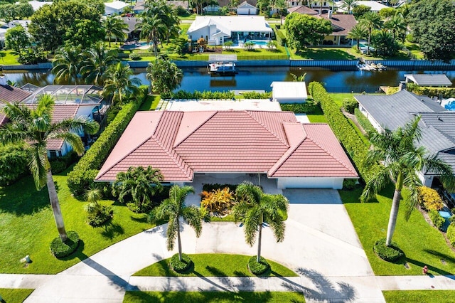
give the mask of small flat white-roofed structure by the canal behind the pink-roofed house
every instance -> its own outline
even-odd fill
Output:
[[[304,82],[274,81],[272,87],[272,100],[279,103],[303,103],[308,97]]]

